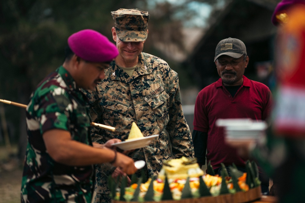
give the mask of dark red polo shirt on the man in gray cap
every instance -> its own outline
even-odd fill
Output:
[[[226,166],[232,163],[236,166],[245,165],[245,160],[237,155],[236,150],[224,143],[223,128],[215,125],[217,119],[265,120],[270,113],[270,89],[246,76],[243,76],[243,84],[233,98],[221,79],[203,88],[196,98],[193,124],[194,130],[208,133],[206,163],[211,161],[214,169],[221,167],[221,163]]]

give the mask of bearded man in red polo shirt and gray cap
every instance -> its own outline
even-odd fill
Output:
[[[205,159],[207,163],[211,161],[218,174],[221,163],[225,166],[235,163],[239,170],[245,171],[246,160],[224,142],[223,129],[215,122],[219,118],[266,120],[271,112],[271,91],[266,85],[244,76],[249,57],[241,40],[231,37],[221,40],[214,62],[220,79],[203,88],[195,103],[192,133],[195,157],[200,166],[205,164]],[[263,194],[268,194],[269,178],[262,176],[260,180]]]

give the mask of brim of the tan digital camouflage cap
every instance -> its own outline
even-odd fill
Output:
[[[123,42],[142,42],[147,39],[147,30],[145,31],[130,31],[116,29],[117,36]]]

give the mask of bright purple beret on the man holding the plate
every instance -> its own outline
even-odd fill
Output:
[[[95,30],[81,30],[68,38],[70,49],[85,61],[103,63],[112,61],[119,51],[107,37]]]

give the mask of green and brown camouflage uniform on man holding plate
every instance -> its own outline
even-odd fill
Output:
[[[26,116],[28,144],[21,202],[91,202],[93,166],[55,162],[42,138],[45,131],[62,129],[69,131],[73,140],[92,145],[88,102],[63,66],[32,93]]]

